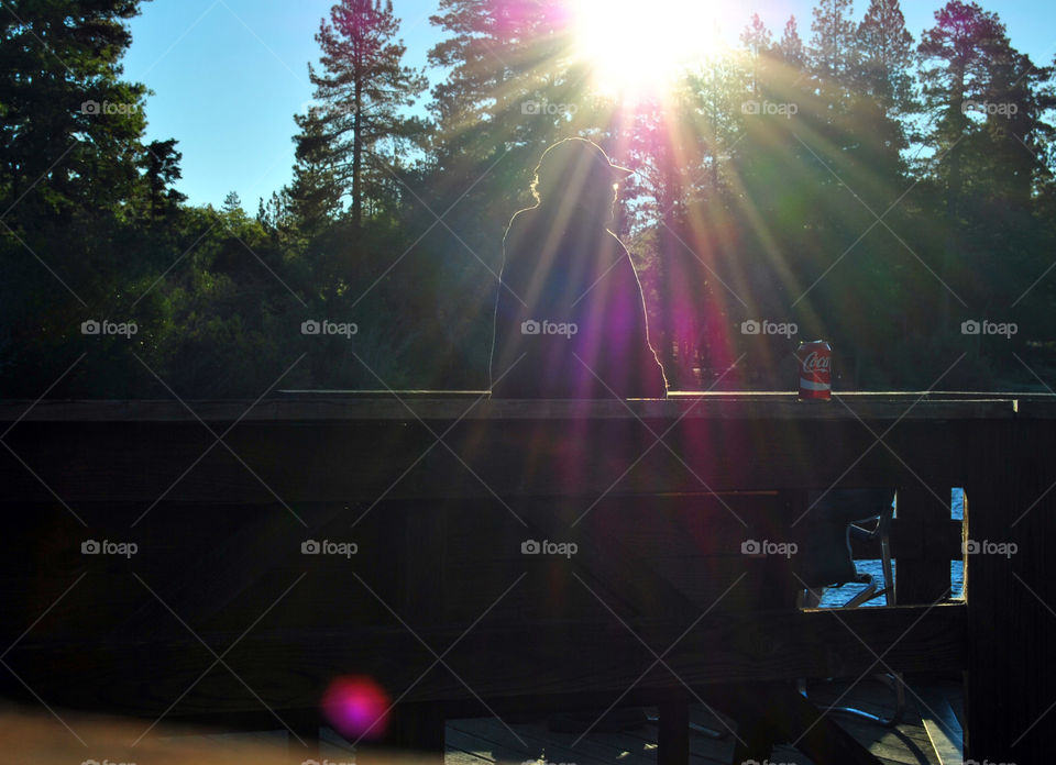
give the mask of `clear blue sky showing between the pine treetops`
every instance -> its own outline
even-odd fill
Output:
[[[700,0],[705,1],[705,0]],[[945,0],[909,0],[902,8],[914,38],[933,24]],[[184,178],[178,188],[195,204],[219,206],[237,191],[249,213],[289,181],[294,162],[293,114],[311,99],[308,62],[317,62],[314,35],[333,0],[153,0],[130,26],[133,42],[124,77],[155,91],[147,100],[147,137],[178,140]],[[406,63],[424,66],[439,38],[429,23],[438,0],[393,0],[407,44]],[[744,13],[717,3],[736,38],[755,11],[779,36],[794,13],[810,37],[811,0],[750,0]],[[1012,44],[1035,64],[1056,52],[1056,4],[1037,0],[982,0],[1008,26]],[[855,16],[868,5],[857,0]],[[640,5],[639,5],[640,7]],[[632,24],[629,25],[632,27]],[[628,29],[632,34],[632,29]],[[428,97],[428,95],[426,95]]]

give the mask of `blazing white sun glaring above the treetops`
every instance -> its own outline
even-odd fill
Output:
[[[624,98],[662,92],[688,67],[722,55],[721,10],[710,0],[571,0],[576,55],[594,87]]]

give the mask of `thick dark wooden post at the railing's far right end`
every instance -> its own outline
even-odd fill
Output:
[[[965,556],[965,757],[980,763],[1052,757],[1054,430],[1044,419],[989,423],[966,487],[966,542],[975,552]],[[1009,543],[1016,546],[997,546]]]

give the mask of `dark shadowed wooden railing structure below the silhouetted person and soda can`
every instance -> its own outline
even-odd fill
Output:
[[[300,730],[330,678],[371,675],[393,734],[436,743],[444,716],[619,699],[678,723],[716,684],[964,672],[965,756],[1042,762],[1054,415],[938,393],[3,402],[2,689]],[[805,543],[804,491],[834,485],[899,489],[900,606],[766,596],[793,561],[743,543]],[[961,533],[980,552],[949,601]]]

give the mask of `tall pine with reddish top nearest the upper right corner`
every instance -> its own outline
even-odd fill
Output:
[[[935,118],[925,142],[938,157],[932,173],[945,191],[939,275],[979,301],[1003,293],[1012,302],[1023,289],[1012,282],[1028,284],[1043,268],[1015,243],[1033,225],[1034,180],[1047,170],[1038,155],[1052,131],[1042,119],[1053,103],[1044,87],[1052,69],[1015,51],[998,15],[975,2],[950,0],[935,22],[919,52],[924,100]],[[1025,271],[1019,278],[1018,263]],[[949,298],[943,301],[948,323]]]

